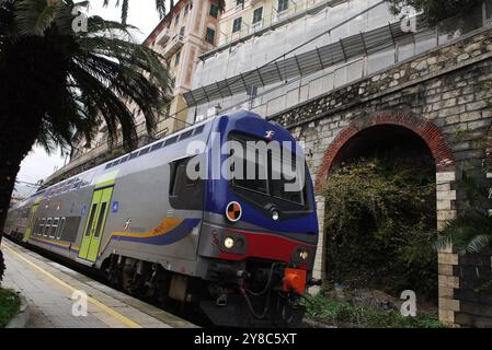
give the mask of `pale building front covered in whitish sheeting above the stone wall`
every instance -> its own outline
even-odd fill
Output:
[[[264,3],[276,9],[274,1]],[[259,5],[239,8],[236,16],[227,10],[222,33],[232,31],[228,23],[233,18],[248,18]],[[206,117],[217,105],[275,114],[436,45],[428,35],[402,33],[386,1],[298,2],[273,22],[265,19],[253,33],[227,39],[201,57],[193,89],[185,93],[192,107],[188,121]]]

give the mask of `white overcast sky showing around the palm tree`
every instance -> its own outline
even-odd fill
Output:
[[[121,9],[115,7],[116,2],[117,0],[110,0],[110,5],[103,8],[103,0],[91,0],[89,14],[98,14],[105,20],[121,21]],[[135,38],[142,42],[159,23],[156,1],[130,0],[127,23],[139,28],[141,33],[136,33]],[[42,148],[34,147],[21,164],[14,195],[31,195],[34,191],[32,186],[19,182],[35,184],[53,174],[56,168],[64,166],[65,162],[66,159],[61,158],[60,152],[48,155]]]

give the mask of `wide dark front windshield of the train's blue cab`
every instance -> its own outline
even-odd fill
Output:
[[[266,143],[240,133],[231,135],[229,142],[232,155],[230,185],[236,191],[260,195],[255,196],[256,201],[306,206],[306,163],[291,152],[294,142],[287,148],[276,141]]]

